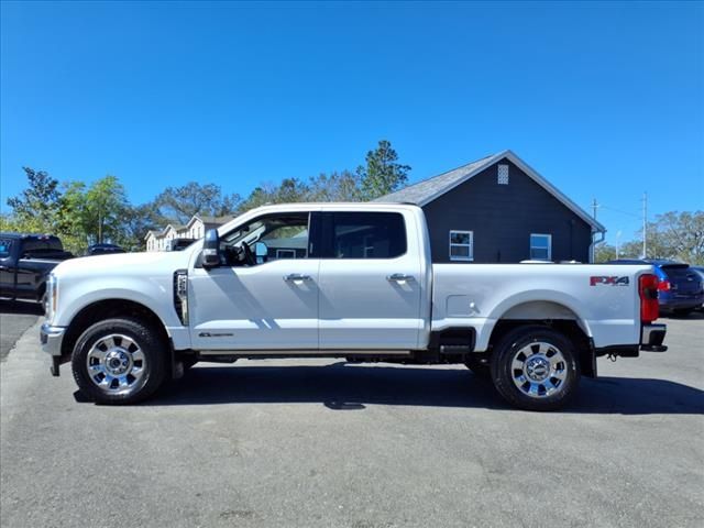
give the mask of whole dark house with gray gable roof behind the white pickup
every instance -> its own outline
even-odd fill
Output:
[[[376,201],[420,206],[437,263],[592,262],[604,226],[510,151]]]

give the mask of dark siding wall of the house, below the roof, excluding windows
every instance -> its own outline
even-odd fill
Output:
[[[497,165],[509,184],[497,184]],[[516,263],[530,256],[530,233],[552,234],[553,261],[588,262],[591,227],[507,160],[424,207],[433,262],[450,261],[450,230],[474,232],[475,263]]]

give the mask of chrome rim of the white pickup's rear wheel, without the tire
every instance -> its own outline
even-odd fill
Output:
[[[536,341],[514,354],[510,371],[518,391],[531,398],[547,398],[564,388],[568,363],[554,344]]]

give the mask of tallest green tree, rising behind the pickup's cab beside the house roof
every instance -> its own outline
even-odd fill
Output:
[[[356,169],[363,199],[373,200],[406,185],[410,166],[397,161],[398,154],[386,140],[380,141],[375,150],[367,152],[366,165],[360,165]]]

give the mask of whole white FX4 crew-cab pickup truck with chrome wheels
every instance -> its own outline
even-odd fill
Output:
[[[432,264],[422,210],[249,211],[182,252],[76,258],[48,280],[44,350],[129,404],[198,361],[466,364],[510,404],[559,408],[601,355],[662,352],[650,265]]]

